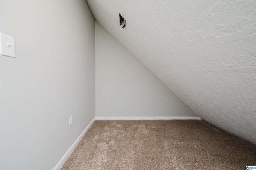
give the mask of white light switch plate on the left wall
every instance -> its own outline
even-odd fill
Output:
[[[15,58],[15,39],[0,33],[0,55]]]

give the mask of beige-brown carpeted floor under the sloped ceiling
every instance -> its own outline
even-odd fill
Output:
[[[245,170],[256,146],[202,120],[95,121],[61,170]]]

